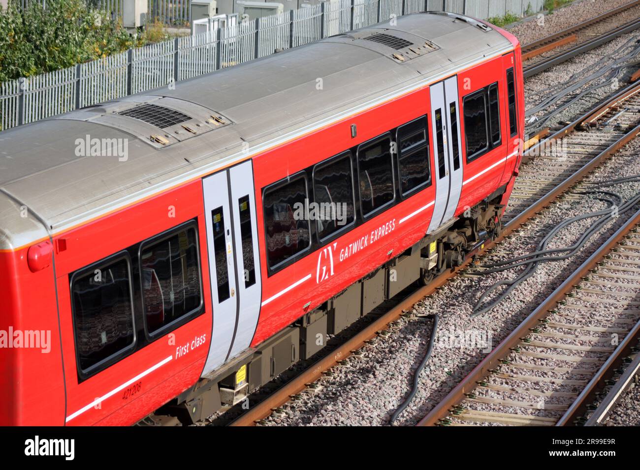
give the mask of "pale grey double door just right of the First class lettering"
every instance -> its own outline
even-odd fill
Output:
[[[249,347],[260,314],[252,161],[202,180],[213,331],[203,375]]]

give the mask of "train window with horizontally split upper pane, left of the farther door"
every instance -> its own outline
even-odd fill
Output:
[[[427,118],[419,118],[397,130],[398,173],[404,195],[431,181]]]

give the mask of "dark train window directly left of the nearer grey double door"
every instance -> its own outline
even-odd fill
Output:
[[[198,309],[202,293],[195,228],[143,245],[140,275],[148,333]]]

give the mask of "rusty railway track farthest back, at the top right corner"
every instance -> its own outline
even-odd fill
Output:
[[[640,1],[603,13],[522,47],[524,77],[540,74],[640,27]]]

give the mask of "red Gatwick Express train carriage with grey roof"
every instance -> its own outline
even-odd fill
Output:
[[[517,40],[420,13],[3,132],[0,424],[236,403],[495,236],[523,116]]]

